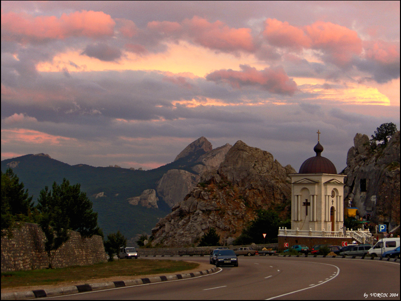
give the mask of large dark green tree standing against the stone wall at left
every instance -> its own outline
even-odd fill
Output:
[[[97,213],[92,210],[92,202],[80,185],[70,185],[66,179],[61,185],[53,183],[52,190],[46,186],[41,191],[37,210],[39,212],[39,225],[45,234],[45,250],[49,257],[49,267],[56,250],[68,238],[68,230],[80,232],[82,237],[100,234],[97,226]]]

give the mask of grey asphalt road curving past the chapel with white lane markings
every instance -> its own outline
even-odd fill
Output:
[[[209,258],[191,257],[190,260],[205,262]],[[400,299],[399,263],[241,256],[239,265],[191,279],[80,293],[58,299]],[[375,293],[386,293],[387,297],[373,295]],[[391,293],[396,296],[390,297]]]

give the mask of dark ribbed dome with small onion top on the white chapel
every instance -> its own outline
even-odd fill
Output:
[[[337,170],[334,164],[321,156],[323,152],[323,146],[317,142],[313,150],[316,153],[315,157],[307,159],[304,163],[302,163],[301,168],[299,169],[300,174],[331,174],[336,175]]]

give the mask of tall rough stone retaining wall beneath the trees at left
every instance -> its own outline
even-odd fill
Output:
[[[89,265],[106,262],[102,237],[82,238],[70,231],[70,239],[55,253],[53,267]],[[2,272],[47,268],[49,258],[45,252],[45,235],[37,224],[22,223],[13,230],[9,239],[2,237]]]

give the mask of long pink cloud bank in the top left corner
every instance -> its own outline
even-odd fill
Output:
[[[111,36],[114,26],[113,19],[103,12],[74,12],[63,14],[60,18],[33,18],[27,14],[10,12],[2,14],[2,39],[26,43],[80,36]]]

